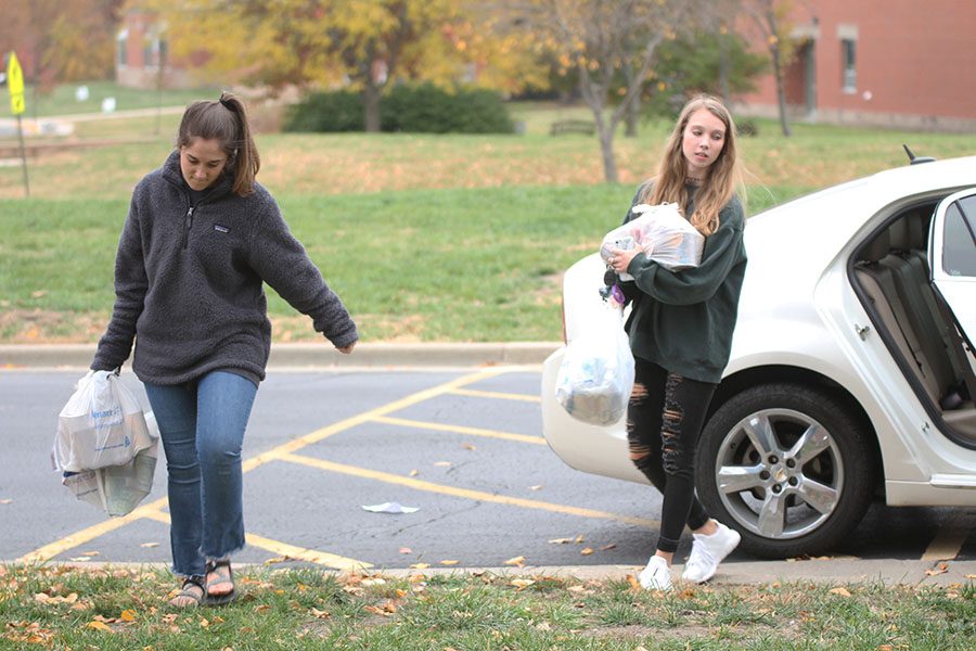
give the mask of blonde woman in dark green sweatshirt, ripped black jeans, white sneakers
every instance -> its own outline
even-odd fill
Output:
[[[729,362],[739,294],[746,267],[735,125],[717,99],[685,104],[657,176],[633,197],[638,204],[677,203],[705,235],[701,264],[669,271],[640,250],[614,250],[608,263],[632,302],[627,321],[635,378],[627,411],[630,458],[664,495],[657,549],[640,574],[648,589],[671,588],[670,566],[686,524],[692,551],[682,578],[703,583],[740,541],[708,516],[695,497],[694,461],[708,405]]]

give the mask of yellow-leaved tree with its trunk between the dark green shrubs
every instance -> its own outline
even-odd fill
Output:
[[[206,53],[204,69],[252,84],[347,86],[362,93],[368,131],[380,130],[384,87],[448,84],[480,73],[511,89],[517,41],[488,38],[460,0],[147,0],[168,25],[175,55]],[[506,56],[497,58],[497,53]],[[486,64],[491,62],[488,67]],[[484,69],[472,69],[480,66]]]

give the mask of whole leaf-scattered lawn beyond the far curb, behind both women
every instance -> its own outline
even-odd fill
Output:
[[[619,224],[657,164],[669,125],[616,140],[621,182],[603,182],[595,138],[551,137],[580,107],[518,104],[521,136],[307,135],[258,138],[259,175],[365,341],[553,341],[560,275]],[[112,302],[115,245],[132,187],[157,167],[178,116],[155,144],[116,144],[0,167],[0,342],[92,342]],[[89,138],[146,136],[155,118],[82,123]],[[919,155],[976,152],[976,136],[759,120],[740,139],[749,213]],[[114,125],[114,127],[113,127]],[[272,293],[273,294],[273,293]],[[314,337],[270,301],[278,341]]]

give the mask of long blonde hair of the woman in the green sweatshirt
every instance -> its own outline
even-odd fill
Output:
[[[725,142],[722,151],[719,152],[715,163],[708,166],[707,176],[702,187],[695,192],[694,213],[686,216],[699,233],[708,237],[718,230],[719,212],[735,194],[736,188],[742,188],[742,169],[735,151],[735,123],[732,122],[729,110],[717,98],[699,94],[689,100],[681,110],[678,122],[675,123],[675,129],[668,138],[654,183],[644,191],[641,203],[656,205],[669,202],[677,203],[682,207],[688,205],[685,188],[688,166],[681,144],[689,118],[699,108],[708,110],[725,126]],[[745,197],[743,196],[741,201],[744,202]]]

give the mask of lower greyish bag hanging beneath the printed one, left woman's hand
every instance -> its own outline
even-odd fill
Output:
[[[152,493],[159,447],[159,431],[152,411],[145,414],[152,444],[123,465],[108,465],[80,473],[65,472],[62,483],[81,501],[120,516],[131,513]]]

